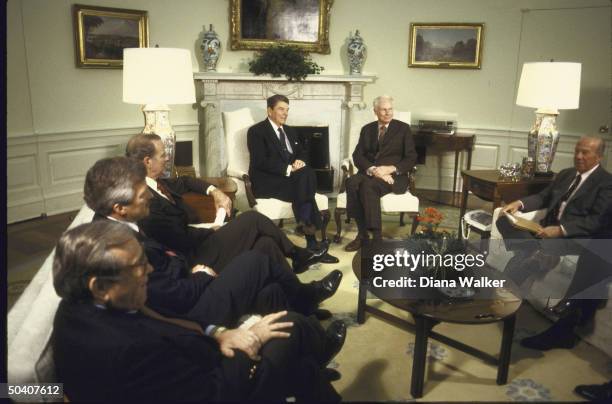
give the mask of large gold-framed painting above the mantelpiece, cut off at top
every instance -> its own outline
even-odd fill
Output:
[[[333,0],[231,0],[233,50],[293,45],[330,53],[329,14]]]

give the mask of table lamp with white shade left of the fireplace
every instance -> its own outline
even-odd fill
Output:
[[[173,48],[124,49],[123,102],[143,105],[142,133],[162,138],[169,157],[162,176],[171,176],[176,136],[170,125],[168,104],[195,103],[191,52]]]

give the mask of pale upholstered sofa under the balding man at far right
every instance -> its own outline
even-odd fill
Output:
[[[495,221],[499,217],[500,211],[501,208],[498,208],[493,214],[487,264],[499,271],[503,271],[506,263],[512,258],[513,253],[506,250],[502,236],[495,226]],[[526,219],[539,221],[545,214],[545,210],[538,210],[520,215]],[[545,313],[543,309],[547,304],[556,304],[559,301],[559,297],[565,294],[576,271],[577,262],[578,256],[576,255],[562,257],[559,264],[553,270],[533,283],[530,295],[527,298],[529,303],[542,313]],[[551,297],[550,299],[548,298],[549,296]],[[612,297],[611,285],[608,286],[608,296]],[[610,300],[608,300],[603,309],[597,311],[595,320],[587,326],[580,328],[578,333],[583,339],[606,352],[609,356],[612,356],[612,303],[610,303]]]

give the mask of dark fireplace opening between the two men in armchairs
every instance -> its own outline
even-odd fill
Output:
[[[317,191],[334,190],[334,168],[329,163],[329,127],[294,126],[306,149],[306,161],[317,176]]]

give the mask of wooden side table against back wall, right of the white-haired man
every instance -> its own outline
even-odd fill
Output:
[[[414,146],[417,151],[417,164],[425,164],[425,149],[432,148],[440,151],[455,152],[455,170],[453,171],[453,195],[457,189],[457,171],[459,170],[459,153],[466,151],[468,154],[467,169],[472,168],[472,150],[476,135],[457,133],[455,135],[436,135],[427,132],[416,132],[413,135]],[[453,204],[455,198],[453,198]]]

